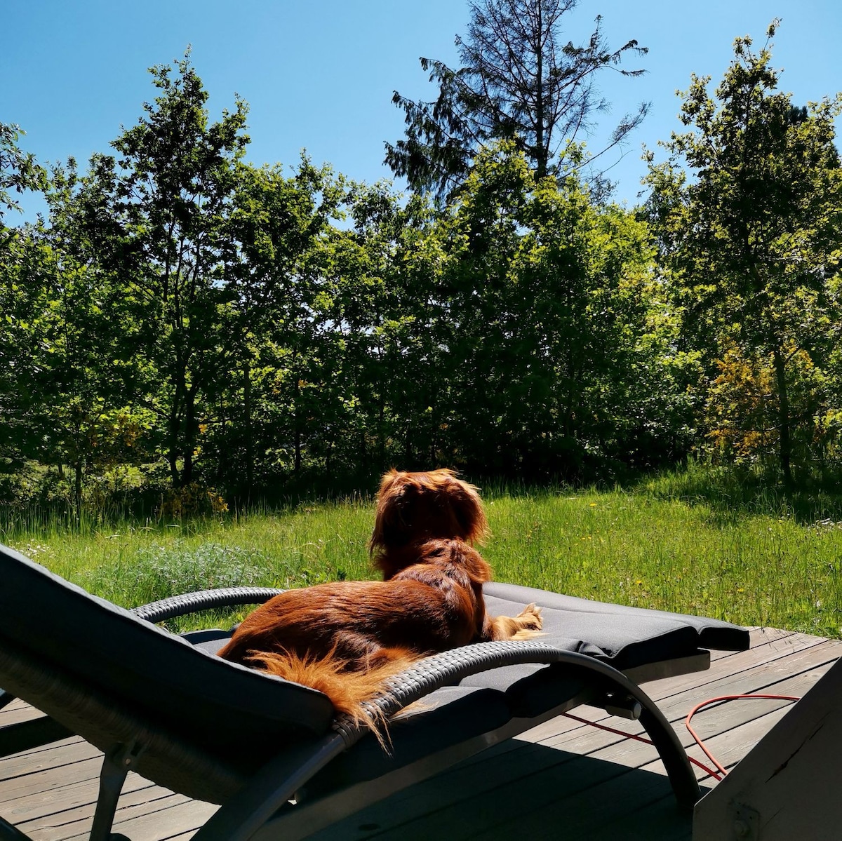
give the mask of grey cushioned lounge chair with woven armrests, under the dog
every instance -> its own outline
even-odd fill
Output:
[[[685,752],[637,684],[707,668],[706,649],[749,645],[718,620],[488,584],[492,614],[540,604],[546,636],[467,646],[399,675],[371,702],[392,718],[386,753],[321,693],[216,657],[230,632],[153,624],[277,592],[211,590],[130,611],[0,547],[0,706],[16,696],[45,713],[0,730],[0,756],[70,734],[101,749],[93,841],[122,838],[112,823],[129,770],[221,804],[197,841],[300,838],[589,703],[639,717],[690,808],[699,788]],[[0,817],[0,838],[26,836]]]

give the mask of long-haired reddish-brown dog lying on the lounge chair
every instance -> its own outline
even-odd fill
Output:
[[[486,614],[491,567],[472,545],[487,530],[477,488],[453,471],[389,471],[369,544],[383,580],[287,590],[249,615],[220,657],[320,689],[376,727],[361,702],[413,660],[541,630],[533,604],[514,617]]]

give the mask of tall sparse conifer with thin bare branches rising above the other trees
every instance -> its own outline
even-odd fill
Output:
[[[538,178],[578,168],[584,162],[579,141],[594,128],[596,114],[608,109],[595,88],[596,74],[611,68],[639,76],[642,70],[618,66],[627,52],[647,50],[636,40],[612,50],[600,17],[587,43],[563,43],[562,16],[577,3],[470,3],[466,37],[456,37],[461,67],[421,59],[429,81],[439,87],[438,98],[415,102],[394,93],[392,102],[403,110],[407,128],[405,139],[386,143],[385,163],[392,172],[406,176],[413,190],[432,190],[443,198],[464,180],[478,150],[494,139],[514,140]],[[621,143],[647,110],[648,104],[641,104],[626,114],[607,148]]]

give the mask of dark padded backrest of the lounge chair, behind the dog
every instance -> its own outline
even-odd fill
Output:
[[[8,639],[37,653],[238,765],[327,732],[333,720],[333,705],[315,689],[221,660],[4,546],[0,582],[0,645]]]

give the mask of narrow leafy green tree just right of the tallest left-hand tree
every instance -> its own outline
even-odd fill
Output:
[[[221,472],[244,465],[248,492],[256,471],[263,487],[287,469],[299,473],[324,420],[319,346],[332,300],[324,254],[346,194],[344,179],[306,157],[289,177],[280,165],[240,167],[225,258],[237,379],[216,438]]]

